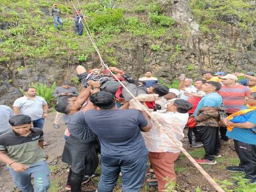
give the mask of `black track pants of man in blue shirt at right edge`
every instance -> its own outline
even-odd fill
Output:
[[[247,179],[256,179],[256,144],[247,144],[234,140],[235,151],[240,159],[240,165],[246,172]]]

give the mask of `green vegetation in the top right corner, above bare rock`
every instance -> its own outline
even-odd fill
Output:
[[[248,29],[256,21],[254,5],[248,0],[192,0],[190,7],[203,32],[227,23]]]

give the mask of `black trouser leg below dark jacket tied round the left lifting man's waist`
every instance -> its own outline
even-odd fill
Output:
[[[71,192],[81,192],[81,184],[84,174],[77,174],[72,172],[71,168],[68,173],[68,181],[66,185],[71,185]]]

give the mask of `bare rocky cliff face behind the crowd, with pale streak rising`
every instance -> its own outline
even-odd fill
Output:
[[[205,69],[226,73],[256,71],[255,24],[244,30],[229,22],[221,27],[222,30],[205,33],[199,29],[188,1],[160,2],[165,15],[172,16],[180,30],[167,38],[155,39],[121,34],[108,43],[108,48],[114,49],[112,56],[116,58],[117,67],[135,77],[152,70],[155,76],[166,82],[171,82],[180,73],[192,78],[201,77],[201,71]],[[106,54],[103,55],[105,60]],[[12,104],[21,95],[19,89],[29,82],[62,84],[66,74],[68,79],[76,76],[74,68],[79,64],[96,68],[99,67],[99,59],[94,53],[88,56],[86,62],[79,62],[73,55],[69,57],[69,62],[65,55],[45,59],[27,57],[27,73],[21,56],[12,62],[2,62],[0,104]]]

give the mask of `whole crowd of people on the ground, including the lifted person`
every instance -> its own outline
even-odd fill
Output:
[[[182,146],[185,127],[191,148],[205,150],[197,163],[215,165],[215,158],[222,156],[221,140],[233,139],[240,165],[228,166],[227,171],[245,172],[249,182],[256,182],[254,73],[204,71],[202,79],[196,80],[181,74],[176,89],[158,84],[151,71],[136,80],[121,69],[109,70],[87,71],[79,65],[80,93],[68,81],[54,90],[57,114],[53,126],[59,129],[61,118],[66,124],[62,154],[62,161],[70,167],[66,190],[81,191],[100,162],[101,176],[94,191],[113,191],[119,175],[124,192],[140,191],[145,180],[164,191],[168,180],[176,182],[174,162],[180,155],[177,146]],[[240,76],[244,79],[238,80]],[[0,161],[6,163],[21,191],[47,191],[48,156],[43,146],[48,143],[42,129],[48,104],[35,88],[24,91],[13,110],[0,105]]]

